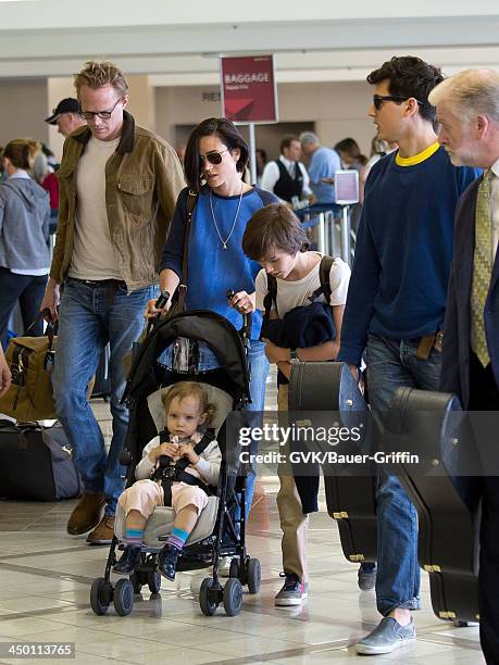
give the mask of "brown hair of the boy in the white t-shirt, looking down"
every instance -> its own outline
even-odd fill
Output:
[[[305,252],[309,247],[300,219],[284,203],[272,203],[257,211],[242,236],[242,251],[254,261],[264,259],[274,248],[294,255]]]

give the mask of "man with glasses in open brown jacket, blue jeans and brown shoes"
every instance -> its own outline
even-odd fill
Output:
[[[55,319],[61,300],[52,382],[57,413],[84,482],[67,531],[79,535],[96,527],[88,542],[107,544],[124,487],[120,453],[128,413],[120,404],[125,387],[122,361],[139,337],[146,304],[154,297],[161,250],[184,179],[172,147],[138,127],[125,111],[128,84],[113,63],[87,62],[75,75],[75,88],[87,126],[64,143],[58,234],[41,309],[48,308]],[[113,430],[109,454],[86,397],[108,342]]]

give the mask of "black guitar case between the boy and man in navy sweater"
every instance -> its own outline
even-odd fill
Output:
[[[289,380],[290,422],[314,425],[360,425],[359,443],[325,443],[338,455],[359,454],[366,447],[369,411],[359,386],[346,363],[294,363]],[[337,520],[341,548],[351,562],[374,562],[376,550],[376,503],[374,469],[363,464],[323,465],[327,511]]]

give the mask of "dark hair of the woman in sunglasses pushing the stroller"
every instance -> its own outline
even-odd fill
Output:
[[[248,164],[248,145],[232,121],[226,117],[209,117],[202,121],[189,136],[184,156],[186,183],[196,193],[200,190],[202,180],[202,168],[199,159],[199,139],[203,136],[213,136],[213,134],[216,134],[229,150],[239,148],[240,156],[236,162],[236,168],[239,173],[244,173]]]

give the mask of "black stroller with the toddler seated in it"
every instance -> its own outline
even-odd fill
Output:
[[[124,396],[129,409],[127,437],[122,453],[122,464],[127,466],[127,489],[118,502],[114,538],[104,576],[96,579],[91,588],[90,605],[96,614],[104,614],[111,603],[117,614],[129,614],[134,593],[140,593],[142,586],[147,585],[152,593],[160,590],[161,575],[158,569],[172,578],[175,569],[185,572],[212,568],[199,591],[199,604],[207,615],[213,615],[222,603],[226,614],[238,614],[242,605],[242,585],[248,586],[250,593],[258,593],[260,562],[250,559],[246,551],[246,515],[245,510],[240,510],[245,505],[245,470],[239,464],[240,442],[237,437],[238,425],[246,423],[245,407],[249,400],[249,363],[244,343],[248,338],[248,329],[246,322],[238,332],[226,318],[214,312],[190,311],[160,321],[138,349]],[[201,367],[205,364],[199,362],[197,366],[196,363],[189,363],[187,371],[178,366],[165,369],[162,363],[165,351],[174,349],[179,339],[187,339],[195,347],[199,344],[201,359],[209,350],[216,359],[217,366],[204,371]],[[189,430],[185,427],[176,430],[167,422],[167,429],[172,428],[172,431],[162,434],[165,407],[170,418],[172,406],[176,409],[178,402],[182,404],[185,401],[185,398],[178,400],[180,392],[177,390],[178,386],[183,389],[186,382],[189,388],[185,394],[194,397],[194,391],[197,391],[198,396],[191,403],[192,407],[196,404],[196,409],[195,413],[190,413],[194,418],[190,434],[197,440],[196,432],[201,434],[207,428],[202,436],[207,443],[208,432],[204,451],[196,451],[196,447],[192,450],[190,444],[183,441],[170,440],[170,434],[176,431],[175,436],[180,439],[187,437]],[[151,451],[155,452],[150,454]],[[170,461],[165,467],[161,464],[163,453],[169,456],[182,455],[176,468],[185,465],[182,469],[185,476],[175,476],[175,480],[180,480],[178,486],[175,482],[171,486],[172,500],[174,494],[175,501],[178,499],[179,514],[186,504],[180,503],[180,492],[175,487],[184,488],[186,476],[194,477],[195,470],[199,474],[201,486],[196,487],[199,489],[199,504],[187,502],[187,505],[196,505],[185,514],[189,519],[184,520],[182,517],[178,522],[175,509],[165,505],[160,485],[147,478],[153,468],[158,468],[159,474],[166,472],[169,475]],[[158,464],[154,460],[157,455]],[[141,480],[135,482],[136,478]],[[146,502],[150,502],[149,507],[134,504],[134,482],[136,487],[147,484],[153,490],[152,499],[146,498]],[[170,487],[170,484],[166,486]],[[216,487],[210,490],[210,486]],[[188,485],[189,490],[191,487],[195,486]],[[130,506],[132,511],[128,510]],[[146,513],[150,513],[149,517]],[[137,519],[130,520],[130,516]],[[134,529],[138,532],[127,534],[127,530]],[[137,539],[135,542],[134,537]],[[180,549],[183,542],[185,545]],[[129,545],[136,545],[133,548],[135,552]],[[120,561],[116,561],[118,548],[125,551]],[[172,552],[172,548],[176,552]],[[232,563],[229,578],[222,586],[219,561],[225,556],[230,557]],[[129,577],[121,577],[114,584],[111,580],[113,569]]]

